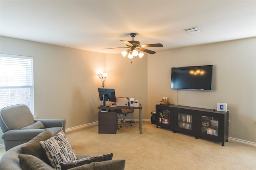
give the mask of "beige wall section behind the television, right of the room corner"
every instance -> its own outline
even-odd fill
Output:
[[[213,64],[213,90],[178,90],[178,104],[230,109],[229,137],[256,142],[256,38],[213,43],[148,55],[148,109],[162,96],[176,104],[170,89],[171,68]]]

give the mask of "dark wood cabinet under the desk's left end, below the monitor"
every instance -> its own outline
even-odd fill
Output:
[[[99,112],[99,133],[116,134],[117,114],[116,112]]]

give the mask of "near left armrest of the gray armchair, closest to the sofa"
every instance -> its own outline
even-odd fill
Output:
[[[12,129],[2,135],[5,141],[30,140],[45,129]]]

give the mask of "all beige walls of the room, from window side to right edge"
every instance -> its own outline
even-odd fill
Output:
[[[170,89],[171,67],[213,64],[213,90],[178,91],[178,104],[216,108],[228,103],[229,137],[256,142],[256,38],[175,49],[130,59],[9,37],[1,37],[0,53],[34,57],[34,112],[38,118],[64,118],[67,128],[98,121],[96,76],[106,71],[105,87],[116,96],[139,100],[143,119],[150,119],[162,96],[176,104]],[[137,113],[136,113],[137,112]],[[138,111],[129,115],[138,119]]]

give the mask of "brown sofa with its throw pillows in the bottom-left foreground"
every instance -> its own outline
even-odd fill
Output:
[[[89,156],[86,154],[76,154],[76,160],[60,162],[59,168],[52,167],[50,159],[48,159],[48,153],[44,150],[44,144],[47,142],[52,142],[54,137],[50,131],[45,131],[40,133],[34,139],[28,143],[23,143],[18,145],[4,153],[0,160],[0,169],[1,170],[124,170],[125,160],[112,160],[112,153],[102,154],[98,156]],[[47,133],[47,135],[45,135]],[[50,137],[49,136],[52,136]],[[63,137],[64,133],[59,135]],[[46,139],[50,137],[49,139]],[[44,140],[46,139],[46,140]],[[44,140],[44,141],[42,141]],[[58,139],[59,140],[59,139]],[[66,139],[66,141],[68,141]],[[69,142],[68,142],[69,143]],[[42,144],[42,145],[41,145]],[[41,145],[41,146],[40,146]],[[65,146],[66,147],[66,146]],[[67,147],[66,147],[67,148]],[[56,151],[56,150],[55,150]],[[64,151],[65,152],[65,151]],[[68,154],[74,153],[71,150],[68,151]],[[50,156],[51,157],[51,156]],[[55,157],[55,156],[53,156]],[[72,156],[69,156],[72,157]],[[55,158],[58,159],[58,158]]]

